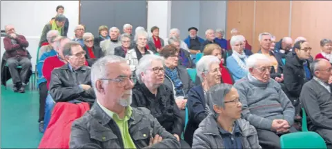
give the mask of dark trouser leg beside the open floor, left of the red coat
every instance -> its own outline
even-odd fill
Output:
[[[45,115],[45,103],[47,97],[47,86],[46,82],[39,84],[39,119],[38,122],[43,121],[43,117]]]

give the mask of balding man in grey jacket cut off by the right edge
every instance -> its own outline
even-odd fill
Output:
[[[308,115],[309,131],[318,132],[330,145],[332,143],[331,70],[329,61],[315,59],[311,64],[314,77],[304,83],[300,94],[300,101]]]

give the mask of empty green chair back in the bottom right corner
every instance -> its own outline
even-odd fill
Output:
[[[326,143],[316,132],[293,132],[280,137],[281,148],[326,148]]]

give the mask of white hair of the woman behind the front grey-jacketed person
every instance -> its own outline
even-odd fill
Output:
[[[213,56],[213,55],[206,55],[203,56],[201,59],[199,59],[199,61],[196,64],[196,71],[197,71],[197,76],[199,77],[199,79],[201,79],[201,81],[203,82],[203,77],[202,77],[202,73],[207,73],[208,71],[210,71],[210,66],[212,63],[220,63],[220,60]]]

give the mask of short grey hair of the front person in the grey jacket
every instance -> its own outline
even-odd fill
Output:
[[[213,105],[225,108],[225,97],[232,88],[233,86],[230,84],[218,83],[206,92],[206,101],[211,102],[209,105],[211,110],[213,110]]]

